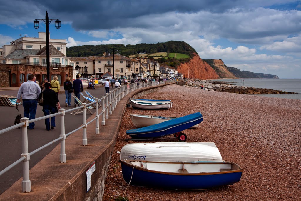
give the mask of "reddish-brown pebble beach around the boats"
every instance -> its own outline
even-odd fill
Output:
[[[127,108],[105,181],[103,200],[301,200],[301,100],[164,86],[142,99],[171,99],[166,110]],[[214,142],[223,160],[244,169],[241,180],[208,190],[168,190],[128,186],[119,154],[134,129],[130,114],[184,116],[200,111],[204,121],[183,131],[186,142]],[[161,140],[163,141],[163,140]],[[166,140],[165,140],[166,141]],[[168,141],[178,141],[168,139]],[[138,141],[138,143],[156,141]],[[144,178],[141,178],[144,179]]]

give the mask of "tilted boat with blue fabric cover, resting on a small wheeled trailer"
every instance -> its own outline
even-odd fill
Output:
[[[126,134],[132,138],[161,137],[186,130],[196,124],[201,123],[202,121],[203,115],[200,112],[196,112],[191,115],[171,119],[159,124],[127,130]]]

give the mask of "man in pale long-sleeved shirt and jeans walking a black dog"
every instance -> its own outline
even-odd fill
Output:
[[[38,97],[41,93],[40,86],[33,80],[34,75],[28,75],[28,81],[21,84],[20,89],[17,94],[17,103],[20,103],[20,98],[22,96],[24,117],[30,119],[36,118],[36,111],[38,105]],[[28,129],[32,130],[35,127],[35,123],[29,123]]]

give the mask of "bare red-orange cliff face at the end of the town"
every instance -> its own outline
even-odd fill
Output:
[[[189,62],[181,64],[177,68],[177,71],[182,73],[184,77],[188,77],[188,70],[190,71],[189,77],[191,78],[197,78],[200,80],[219,78],[216,71],[213,70],[213,68],[203,61],[196,53],[194,53],[194,57]]]

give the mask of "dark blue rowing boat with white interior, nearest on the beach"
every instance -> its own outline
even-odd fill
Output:
[[[120,160],[126,183],[141,187],[198,190],[234,184],[242,169],[233,162],[155,162]]]

